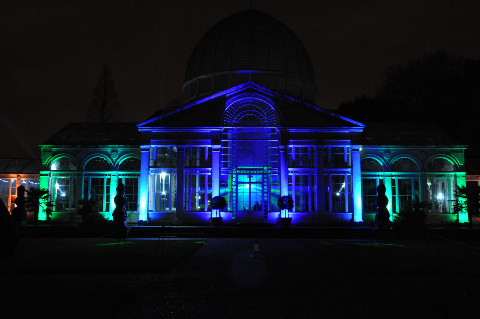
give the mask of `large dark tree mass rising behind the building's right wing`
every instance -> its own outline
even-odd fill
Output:
[[[480,59],[444,50],[425,52],[390,65],[375,97],[343,102],[338,113],[360,122],[432,122],[469,145],[466,157],[480,158],[477,116]]]

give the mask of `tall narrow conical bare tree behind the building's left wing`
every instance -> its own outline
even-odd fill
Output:
[[[90,108],[87,110],[90,121],[96,123],[120,121],[121,104],[117,99],[115,82],[107,64],[98,76],[93,96]]]

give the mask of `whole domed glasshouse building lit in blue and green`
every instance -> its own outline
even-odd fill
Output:
[[[431,123],[358,123],[316,106],[316,89],[286,25],[233,14],[193,50],[181,108],[143,123],[71,123],[40,145],[52,218],[73,220],[81,197],[111,218],[121,182],[131,223],[204,224],[215,196],[227,201],[224,223],[276,223],[280,196],[292,197],[294,224],[369,222],[379,184],[390,213],[421,199],[431,222],[455,219],[466,146]]]

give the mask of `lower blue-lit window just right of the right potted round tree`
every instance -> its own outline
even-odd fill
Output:
[[[288,175],[288,195],[292,196],[294,201],[293,211],[316,211],[315,177],[315,175]]]

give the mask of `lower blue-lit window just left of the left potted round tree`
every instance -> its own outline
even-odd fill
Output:
[[[212,175],[186,174],[184,176],[184,209],[186,211],[210,210],[212,200]]]

